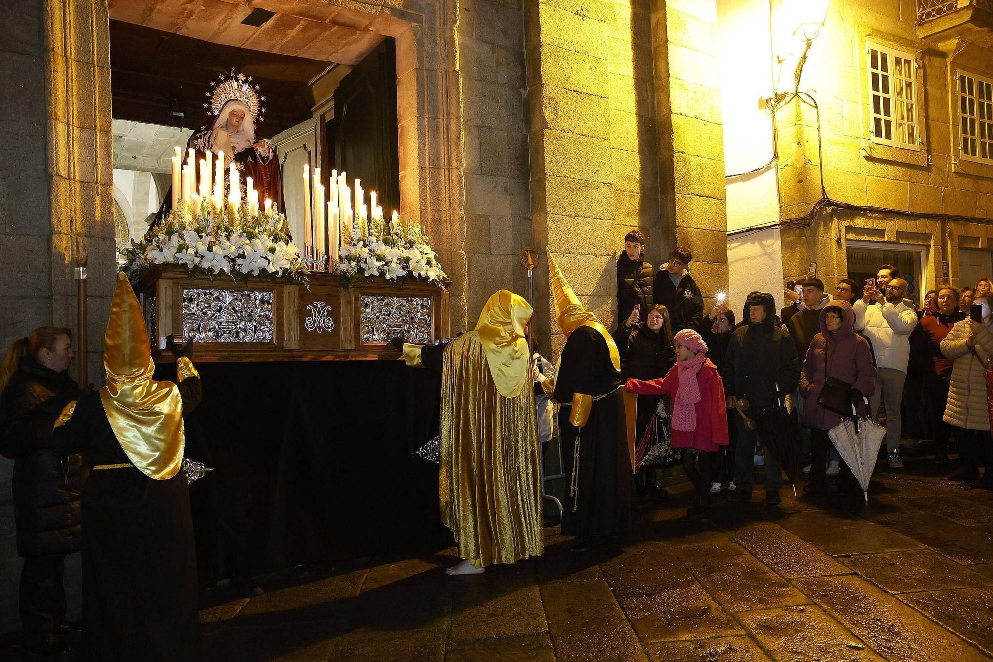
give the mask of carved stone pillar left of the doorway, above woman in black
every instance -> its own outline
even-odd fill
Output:
[[[51,321],[75,326],[72,267],[89,271],[89,376],[103,373],[103,333],[116,272],[109,17],[105,0],[44,0],[47,159],[37,172],[47,192]],[[40,145],[39,145],[40,148]],[[2,276],[0,276],[2,278]],[[78,329],[73,330],[78,334]]]

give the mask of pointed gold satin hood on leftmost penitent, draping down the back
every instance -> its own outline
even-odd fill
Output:
[[[149,478],[166,480],[183,463],[183,401],[172,382],[152,379],[148,329],[127,276],[117,276],[103,339],[103,411],[124,453]]]

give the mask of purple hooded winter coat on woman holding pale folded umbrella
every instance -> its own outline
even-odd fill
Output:
[[[831,333],[827,330],[827,311],[841,312],[841,328]],[[825,371],[825,358],[830,363]],[[820,333],[813,337],[803,360],[800,373],[800,395],[804,399],[801,420],[807,427],[831,429],[841,416],[817,404],[821,389],[828,377],[851,384],[868,398],[876,391],[876,368],[872,365],[869,342],[855,333],[855,311],[844,301],[831,301],[820,311]],[[858,414],[865,415],[863,402]]]

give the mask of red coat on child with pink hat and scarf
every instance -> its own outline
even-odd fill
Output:
[[[717,374],[717,368],[710,359],[700,366],[695,376],[700,389],[700,402],[694,406],[696,429],[672,430],[673,448],[696,448],[715,451],[728,445],[727,399],[724,397],[724,382]],[[628,380],[625,388],[639,396],[672,396],[675,399],[679,390],[679,364],[672,366],[660,380],[642,382]]]

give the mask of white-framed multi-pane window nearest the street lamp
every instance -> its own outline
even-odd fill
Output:
[[[878,69],[873,69],[873,51],[879,53],[881,58],[885,58],[885,65],[880,65]],[[911,63],[913,71],[910,79],[895,72],[897,58]],[[885,70],[883,69],[884,67]],[[920,151],[922,99],[918,93],[918,67],[918,59],[913,53],[901,51],[900,49],[885,46],[877,42],[866,43],[866,72],[868,74],[867,82],[869,83],[869,135],[873,142],[900,149]],[[874,79],[879,81],[878,90],[876,89],[877,85],[874,84]],[[911,98],[908,99],[906,94],[899,96],[898,89],[909,89],[911,91]],[[875,103],[877,97],[880,100],[879,110],[877,110]],[[887,103],[889,103],[889,115],[885,113]],[[913,118],[910,120],[901,119],[898,116],[898,108],[903,108],[907,104],[910,104],[913,112]],[[877,135],[877,119],[880,120],[881,126],[883,122],[889,122],[891,137],[887,138],[885,135]],[[911,130],[914,131],[913,140],[905,141],[900,138],[901,124],[911,127]]]

